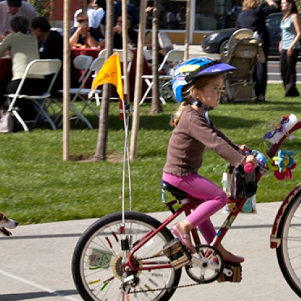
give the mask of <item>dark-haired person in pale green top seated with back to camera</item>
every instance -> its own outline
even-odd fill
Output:
[[[28,33],[29,19],[23,15],[15,15],[11,19],[11,29],[12,33],[5,36],[0,45],[0,57],[5,54],[6,51],[10,51],[13,77],[7,86],[5,85],[6,83],[1,83],[0,106],[6,101],[3,94],[15,93],[17,91],[26,66],[31,61],[40,58],[38,40],[32,33]],[[27,78],[21,92],[29,95],[41,95],[46,92],[44,76],[36,75]],[[21,107],[19,104],[18,106]]]

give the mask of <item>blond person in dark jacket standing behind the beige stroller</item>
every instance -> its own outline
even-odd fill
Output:
[[[257,32],[263,41],[263,51],[265,54],[265,63],[257,61],[253,72],[253,82],[255,85],[255,101],[265,102],[265,90],[267,84],[267,60],[270,39],[268,29],[265,25],[265,17],[271,14],[278,5],[272,0],[265,0],[268,6],[259,5],[259,0],[244,0],[242,12],[236,20],[236,29],[248,28],[254,33]]]

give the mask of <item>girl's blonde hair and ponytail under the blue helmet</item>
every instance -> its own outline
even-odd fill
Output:
[[[178,110],[174,113],[172,119],[169,122],[169,124],[172,127],[176,127],[178,125],[180,117],[182,116],[182,113],[184,112],[185,108],[190,104],[190,101],[194,101],[194,99],[191,97],[191,92],[194,89],[202,90],[217,77],[221,77],[223,79],[223,76],[221,74],[198,76],[194,79],[194,81],[190,85],[186,85],[183,88],[182,90],[183,101],[181,102]]]

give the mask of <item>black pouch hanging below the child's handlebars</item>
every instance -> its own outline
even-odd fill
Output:
[[[257,180],[256,171],[251,173],[244,171],[244,166],[240,165],[238,168],[234,169],[234,187],[235,187],[235,197],[245,199],[256,194],[257,191]]]

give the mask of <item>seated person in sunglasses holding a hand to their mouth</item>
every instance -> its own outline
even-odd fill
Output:
[[[95,48],[104,48],[104,40],[99,42],[98,31],[95,28],[88,27],[85,21],[85,14],[79,13],[76,16],[77,27],[72,27],[70,32],[70,46],[80,44],[85,45],[85,35],[87,34],[87,46]]]

